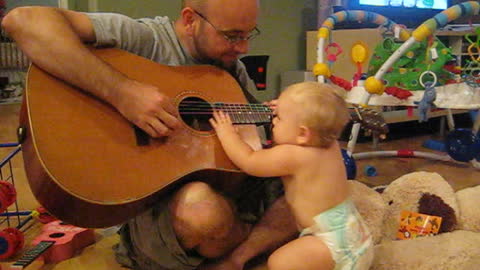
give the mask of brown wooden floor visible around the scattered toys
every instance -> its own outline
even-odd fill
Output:
[[[18,123],[19,105],[0,104],[0,143],[16,142],[16,128]],[[384,141],[376,147],[371,142],[357,144],[355,152],[373,151],[373,150],[398,150],[414,149],[419,151],[430,151],[422,148],[422,143],[432,138],[432,135],[412,136],[400,140]],[[343,143],[345,144],[345,143]],[[0,160],[3,160],[14,148],[0,148]],[[17,201],[21,210],[32,210],[38,207],[37,202],[32,196],[25,174],[23,172],[23,162],[21,152],[12,158],[12,171],[15,177],[15,187],[18,193]],[[368,160],[357,160],[357,179],[371,186],[385,185],[395,180],[397,177],[413,171],[430,171],[441,174],[455,190],[480,184],[480,171],[473,169],[469,164],[438,162],[421,158],[375,158]],[[374,166],[377,170],[377,176],[368,177],[364,175],[365,166]],[[9,168],[2,169],[2,177],[6,178]],[[39,234],[40,225],[34,223],[25,233],[26,245]],[[3,229],[5,224],[2,224]],[[96,243],[85,248],[78,256],[63,261],[58,264],[45,265],[41,261],[34,262],[28,269],[62,269],[62,270],[81,270],[81,269],[125,269],[120,267],[114,259],[111,247],[118,242],[118,237],[109,231],[96,231]],[[25,251],[25,249],[24,249]],[[10,265],[19,256],[1,263],[5,266]],[[265,269],[260,266],[257,270]]]

